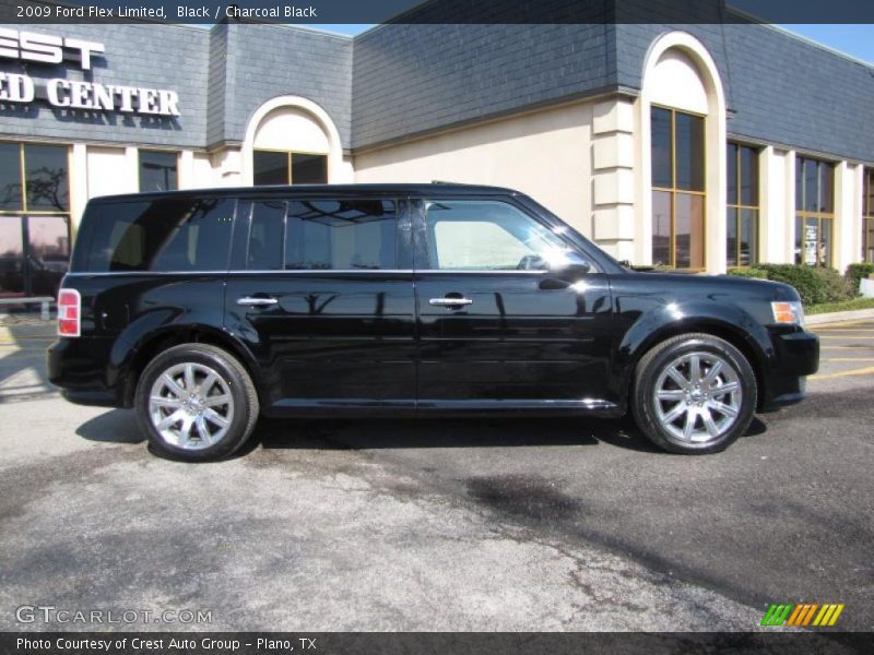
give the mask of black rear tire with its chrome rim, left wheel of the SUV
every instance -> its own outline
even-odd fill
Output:
[[[163,400],[173,403],[172,407],[153,406],[152,394],[155,391],[155,384],[158,384],[158,378],[162,379],[160,384],[163,384],[164,389],[174,389],[165,383],[166,378],[162,378],[165,372],[176,371],[181,367],[181,378],[170,376],[170,379],[177,384],[177,389],[181,388],[181,391],[186,391],[182,385],[185,385],[185,376],[188,372],[186,366],[189,364],[192,365],[191,370],[194,371],[192,380],[200,381],[200,385],[194,384],[193,386],[194,396],[170,392],[163,396]],[[215,374],[214,381],[209,373]],[[202,386],[206,384],[210,384],[213,393],[206,395],[210,394],[210,390],[206,389],[201,396]],[[177,400],[181,401],[182,396],[186,396],[185,403],[196,403],[193,409],[188,406],[176,408]],[[194,397],[197,400],[192,400]],[[228,402],[218,403],[217,409],[214,409],[212,414],[213,417],[217,414],[215,420],[224,419],[224,425],[211,422],[213,418],[202,416],[204,412],[209,413],[213,409],[213,407],[206,406],[209,403],[220,402],[224,398],[228,398]],[[251,434],[260,412],[255,384],[239,360],[222,348],[193,343],[168,348],[149,362],[137,385],[134,407],[140,429],[147,437],[152,451],[158,455],[188,462],[215,461],[233,454]],[[182,422],[176,422],[169,428],[165,428],[165,432],[173,432],[174,427],[178,427],[176,433],[179,434],[178,440],[185,442],[185,446],[173,442],[173,439],[177,438],[176,434],[167,438],[158,430],[160,424],[155,424],[157,414],[153,413],[162,412],[166,415],[167,420],[172,420],[170,414],[191,412],[191,414],[180,414],[178,421]],[[227,419],[227,416],[231,418]],[[186,432],[189,434],[188,438],[181,436],[186,425],[184,421],[187,419],[190,419],[189,430]],[[201,439],[198,434],[201,426],[205,427],[208,439]],[[215,438],[214,442],[213,438]]]

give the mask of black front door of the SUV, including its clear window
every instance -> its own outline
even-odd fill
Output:
[[[417,209],[418,407],[604,409],[605,275],[510,199]],[[575,255],[569,258],[569,255]]]

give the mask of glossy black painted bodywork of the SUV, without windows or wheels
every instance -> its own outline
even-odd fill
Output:
[[[48,354],[49,379],[75,402],[129,406],[155,348],[204,341],[236,355],[268,415],[595,413],[627,409],[635,367],[683,332],[731,341],[751,360],[759,405],[796,402],[818,362],[816,337],[770,324],[786,285],[695,275],[633,273],[533,200],[504,189],[361,186],[187,191],[238,205],[261,198],[395,199],[394,270],[251,271],[249,216],[234,218],[221,271],[73,271],[82,336]],[[427,267],[423,202],[506,202],[562,236],[589,273],[434,271]],[[131,196],[139,201],[149,194]],[[94,206],[129,199],[99,199]],[[75,264],[75,257],[74,257]],[[433,299],[463,297],[461,308]],[[270,305],[239,305],[246,298]]]

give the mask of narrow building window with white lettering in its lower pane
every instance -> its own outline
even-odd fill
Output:
[[[830,266],[835,219],[835,169],[828,162],[795,157],[795,263]]]

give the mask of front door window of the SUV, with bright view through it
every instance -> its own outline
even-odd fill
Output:
[[[425,207],[430,269],[545,270],[568,250],[547,227],[504,202],[441,200]]]

